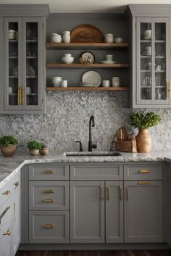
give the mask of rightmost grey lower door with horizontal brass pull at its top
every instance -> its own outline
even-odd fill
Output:
[[[125,181],[125,243],[162,242],[162,181]]]

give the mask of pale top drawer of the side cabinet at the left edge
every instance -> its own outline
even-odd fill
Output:
[[[7,202],[7,199],[20,187],[20,173],[17,173],[7,184],[0,189],[0,208]]]

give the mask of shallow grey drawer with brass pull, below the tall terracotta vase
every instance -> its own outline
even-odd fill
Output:
[[[125,180],[162,180],[161,164],[135,164],[124,166]]]

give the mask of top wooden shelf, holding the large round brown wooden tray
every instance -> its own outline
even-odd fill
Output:
[[[107,43],[70,43],[70,44],[56,44],[56,43],[46,43],[46,47],[48,49],[62,49],[62,48],[98,48],[98,49],[106,49],[106,48],[116,48],[116,49],[126,49],[129,47],[128,43],[122,43],[122,44],[107,44]]]

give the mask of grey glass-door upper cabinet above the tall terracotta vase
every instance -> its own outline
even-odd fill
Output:
[[[170,7],[130,4],[130,106],[170,108]],[[136,51],[135,51],[136,49]]]

